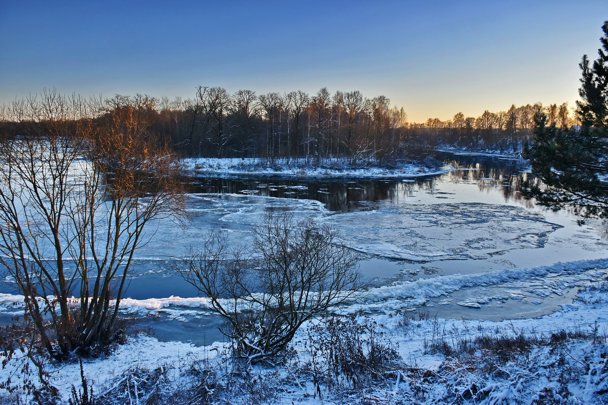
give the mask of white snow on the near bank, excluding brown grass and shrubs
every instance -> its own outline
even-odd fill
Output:
[[[607,259],[608,260],[608,259]],[[596,264],[602,264],[597,262]],[[579,262],[573,264],[562,264],[562,268],[569,268],[576,272],[593,265],[592,262]],[[558,265],[557,267],[559,267]],[[578,269],[578,270],[576,270]],[[546,269],[548,270],[548,269]],[[598,342],[593,340],[573,340],[564,342],[561,349],[553,347],[532,348],[530,353],[522,358],[514,353],[513,358],[507,361],[499,369],[501,373],[495,373],[482,379],[480,370],[474,365],[466,366],[459,361],[463,358],[448,358],[441,354],[429,353],[427,344],[432,339],[462,339],[469,341],[475,336],[502,334],[516,336],[525,333],[529,336],[548,336],[558,330],[579,330],[582,333],[593,333],[597,326],[605,328],[608,324],[608,291],[606,288],[598,290],[590,288],[579,294],[578,301],[565,305],[562,310],[543,316],[541,318],[493,321],[463,321],[450,319],[421,319],[407,318],[406,324],[402,323],[407,315],[398,313],[376,314],[370,316],[373,321],[378,322],[379,328],[390,339],[405,364],[411,369],[396,375],[387,375],[389,384],[378,384],[368,391],[366,395],[374,395],[376,398],[392,398],[394,401],[408,401],[412,398],[412,383],[423,383],[423,379],[412,379],[415,375],[407,370],[420,370],[428,378],[439,373],[443,379],[427,386],[426,396],[420,399],[420,403],[443,404],[441,398],[447,395],[446,384],[452,387],[470,386],[479,384],[479,390],[486,390],[488,395],[482,396],[475,403],[499,404],[515,403],[520,401],[530,403],[536,398],[540,387],[559,387],[559,381],[565,381],[568,376],[568,389],[572,399],[579,401],[573,403],[599,404],[602,397],[598,392],[606,389],[607,364],[606,352],[608,346],[602,338]],[[318,321],[310,321],[304,325],[294,338],[293,347],[296,357],[291,359],[288,368],[282,370],[284,379],[272,379],[268,381],[277,390],[279,399],[277,403],[291,404],[291,401],[309,405],[320,403],[350,404],[356,403],[348,400],[347,396],[334,397],[331,393],[325,393],[323,400],[313,397],[314,386],[300,379],[294,387],[294,378],[297,375],[291,367],[297,367],[299,362],[308,361],[306,354],[305,333],[308,326]],[[603,325],[603,326],[602,326]],[[601,333],[605,333],[604,330]],[[112,387],[125,381],[130,373],[135,370],[154,370],[163,367],[168,370],[168,383],[173,386],[183,385],[184,379],[192,378],[187,370],[195,361],[207,359],[212,361],[216,367],[224,365],[227,358],[222,353],[226,344],[214,343],[212,345],[195,347],[185,342],[162,342],[153,337],[145,335],[131,336],[128,342],[117,347],[114,352],[107,356],[96,359],[85,359],[83,361],[83,373],[91,381],[95,393],[109,392]],[[564,354],[567,356],[564,357]],[[562,366],[559,366],[562,364]],[[2,370],[1,375],[5,378],[7,373],[14,371],[13,362]],[[463,368],[464,367],[464,368]],[[562,368],[559,368],[562,367]],[[274,370],[274,371],[272,371]],[[460,370],[460,371],[459,371]],[[58,387],[64,400],[72,386],[80,386],[80,366],[78,363],[61,364],[60,366],[47,365],[46,371],[50,373],[50,382]],[[252,369],[252,373],[277,372],[276,369]],[[463,373],[464,372],[464,373]],[[564,372],[569,374],[564,375]],[[579,373],[579,374],[576,374]],[[13,384],[18,374],[13,376]],[[430,380],[432,381],[432,380]],[[556,385],[558,384],[558,385]],[[556,388],[557,389],[557,388]],[[344,395],[344,394],[341,394]],[[340,400],[342,398],[342,400]],[[235,401],[238,398],[235,398]],[[235,402],[236,403],[236,402]]]

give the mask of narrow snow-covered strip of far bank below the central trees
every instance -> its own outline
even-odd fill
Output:
[[[349,166],[344,160],[330,160],[316,165],[303,160],[271,162],[259,158],[185,158],[184,169],[196,175],[279,175],[299,177],[420,177],[446,173],[451,166],[426,159],[424,161],[402,162],[396,167],[374,165]]]

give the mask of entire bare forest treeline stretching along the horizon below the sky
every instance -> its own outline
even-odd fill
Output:
[[[24,125],[44,123],[44,117],[28,114],[31,101],[4,106],[2,134],[18,135]],[[539,109],[550,124],[575,124],[565,103],[513,105],[480,117],[458,112],[452,120],[409,123],[404,109],[383,95],[367,98],[358,90],[330,94],[325,87],[316,94],[297,90],[257,95],[254,90],[230,94],[223,87],[199,86],[195,97],[185,100],[116,95],[97,105],[103,105],[95,112],[98,122],[116,112],[132,115],[182,157],[305,158],[311,163],[342,158],[350,165],[421,157],[446,146],[519,152],[533,140],[533,117]],[[74,120],[80,119],[78,114],[72,112]]]

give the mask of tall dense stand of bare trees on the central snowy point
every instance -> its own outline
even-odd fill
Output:
[[[195,157],[346,158],[354,164],[409,154],[407,114],[389,98],[323,87],[257,95],[198,87],[188,100],[162,98],[157,121],[173,148]]]

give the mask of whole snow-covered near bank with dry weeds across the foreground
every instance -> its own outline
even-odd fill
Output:
[[[467,399],[488,405],[606,403],[606,282],[587,288],[573,304],[541,318],[501,322],[415,319],[394,311],[365,318],[359,317],[358,322],[376,325],[376,333],[382,333],[376,335],[381,338],[377,342],[389,342],[399,359],[381,376],[358,376],[360,383],[371,378],[363,386],[324,374],[328,369],[323,358],[311,351],[317,347],[311,342],[316,336],[313,326],[322,325],[318,320],[308,322],[297,333],[288,362],[277,367],[250,367],[240,373],[233,368],[238,366],[227,355],[226,344],[194,347],[138,335],[107,356],[85,359],[83,376],[95,395],[109,395],[105,400],[112,404],[159,404],[150,400],[156,395],[157,400],[164,398],[160,403],[173,405],[188,403],[180,395],[190,395],[192,400],[201,393],[216,399],[227,395],[232,404],[252,403],[254,398],[260,404],[309,405],[440,405]],[[495,349],[492,339],[499,343]],[[506,344],[516,346],[508,349]],[[457,348],[460,351],[449,352]],[[18,367],[9,362],[0,378],[10,375],[13,386],[19,387],[22,375]],[[71,387],[81,387],[77,362],[49,364],[46,372],[66,402]],[[563,396],[564,401],[543,402],[547,396]]]

